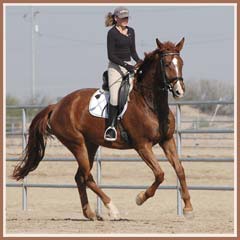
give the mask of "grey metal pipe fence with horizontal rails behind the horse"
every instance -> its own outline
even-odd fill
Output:
[[[234,162],[233,158],[182,158],[182,134],[201,134],[201,133],[234,133],[233,129],[185,129],[181,130],[181,106],[182,105],[199,105],[199,104],[219,104],[219,105],[231,105],[234,104],[232,101],[181,101],[171,103],[171,105],[176,106],[176,144],[177,152],[181,161],[185,162]],[[6,135],[21,135],[22,136],[22,148],[25,149],[26,146],[26,110],[27,109],[41,109],[45,106],[42,105],[29,105],[29,106],[7,106],[7,109],[19,109],[22,111],[22,132],[21,133],[6,133]],[[17,161],[17,158],[7,158],[6,161]],[[140,158],[114,158],[114,157],[102,157],[100,150],[98,150],[95,156],[97,164],[97,184],[101,188],[105,189],[146,189],[148,186],[132,186],[132,185],[111,185],[102,184],[102,162],[139,162]],[[167,161],[166,158],[158,158],[159,161]],[[43,161],[75,161],[74,158],[45,158]],[[236,159],[235,159],[236,161]],[[21,187],[22,188],[22,209],[27,210],[27,190],[28,188],[76,188],[73,184],[33,184],[27,183],[27,177],[24,178],[22,183],[6,183],[6,187]],[[173,186],[160,186],[158,189],[164,190],[176,190],[177,191],[177,214],[182,215],[182,200],[180,194],[180,184],[178,179],[176,180],[176,185]],[[216,191],[233,191],[234,188],[231,186],[188,186],[190,190],[216,190]],[[101,213],[102,203],[100,198],[97,198],[97,212]]]

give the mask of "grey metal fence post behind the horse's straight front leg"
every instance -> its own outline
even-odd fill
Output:
[[[176,122],[177,122],[177,128],[176,128],[176,140],[177,140],[177,154],[178,157],[181,157],[181,148],[182,148],[182,142],[181,142],[181,106],[180,104],[176,105]],[[182,197],[181,197],[181,186],[180,182],[177,178],[177,214],[179,216],[183,215],[182,210]]]

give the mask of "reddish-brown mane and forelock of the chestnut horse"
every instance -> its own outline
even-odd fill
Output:
[[[144,60],[139,65],[138,70],[137,70],[137,79],[138,79],[138,81],[141,81],[141,79],[143,78],[144,73],[145,73],[145,69],[149,68],[150,64],[155,59],[155,55],[157,53],[161,53],[161,52],[165,52],[165,51],[167,51],[167,52],[176,51],[175,44],[170,42],[170,41],[167,41],[167,42],[163,43],[163,48],[161,49],[161,51],[160,51],[159,48],[157,48],[157,49],[153,50],[152,52],[145,53]]]

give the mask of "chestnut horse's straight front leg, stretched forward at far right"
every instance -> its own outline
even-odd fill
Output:
[[[167,159],[173,166],[173,168],[178,176],[178,179],[180,181],[181,188],[182,188],[182,192],[181,192],[182,199],[185,204],[183,211],[185,214],[191,213],[193,211],[193,208],[192,208],[192,204],[190,201],[190,195],[189,195],[188,188],[187,188],[184,168],[183,168],[183,166],[178,158],[178,155],[177,155],[175,140],[174,140],[174,138],[171,138],[171,139],[166,140],[163,143],[161,143],[160,146],[164,150],[164,153],[165,153]]]

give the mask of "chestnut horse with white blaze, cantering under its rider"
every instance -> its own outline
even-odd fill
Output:
[[[161,42],[156,38],[157,48],[136,64],[133,88],[129,94],[128,108],[121,124],[131,141],[120,136],[117,127],[117,140],[105,141],[106,121],[89,113],[89,101],[97,89],[80,89],[62,98],[58,103],[41,110],[29,127],[25,153],[15,166],[13,178],[23,179],[35,170],[43,159],[47,138],[55,136],[74,155],[78,163],[75,175],[83,215],[89,220],[100,217],[91,210],[86,187],[96,193],[108,210],[112,219],[120,219],[120,213],[111,198],[96,184],[91,169],[99,146],[113,149],[135,149],[142,160],[151,168],[155,180],[145,191],[136,197],[136,204],[142,205],[154,196],[164,180],[164,172],[154,153],[158,144],[174,168],[181,185],[184,201],[184,214],[192,214],[193,207],[186,183],[184,168],[179,160],[173,137],[175,118],[168,105],[168,92],[178,99],[184,96],[185,85],[182,78],[183,60],[180,51],[184,38],[177,44]],[[138,65],[138,66],[137,66]]]

